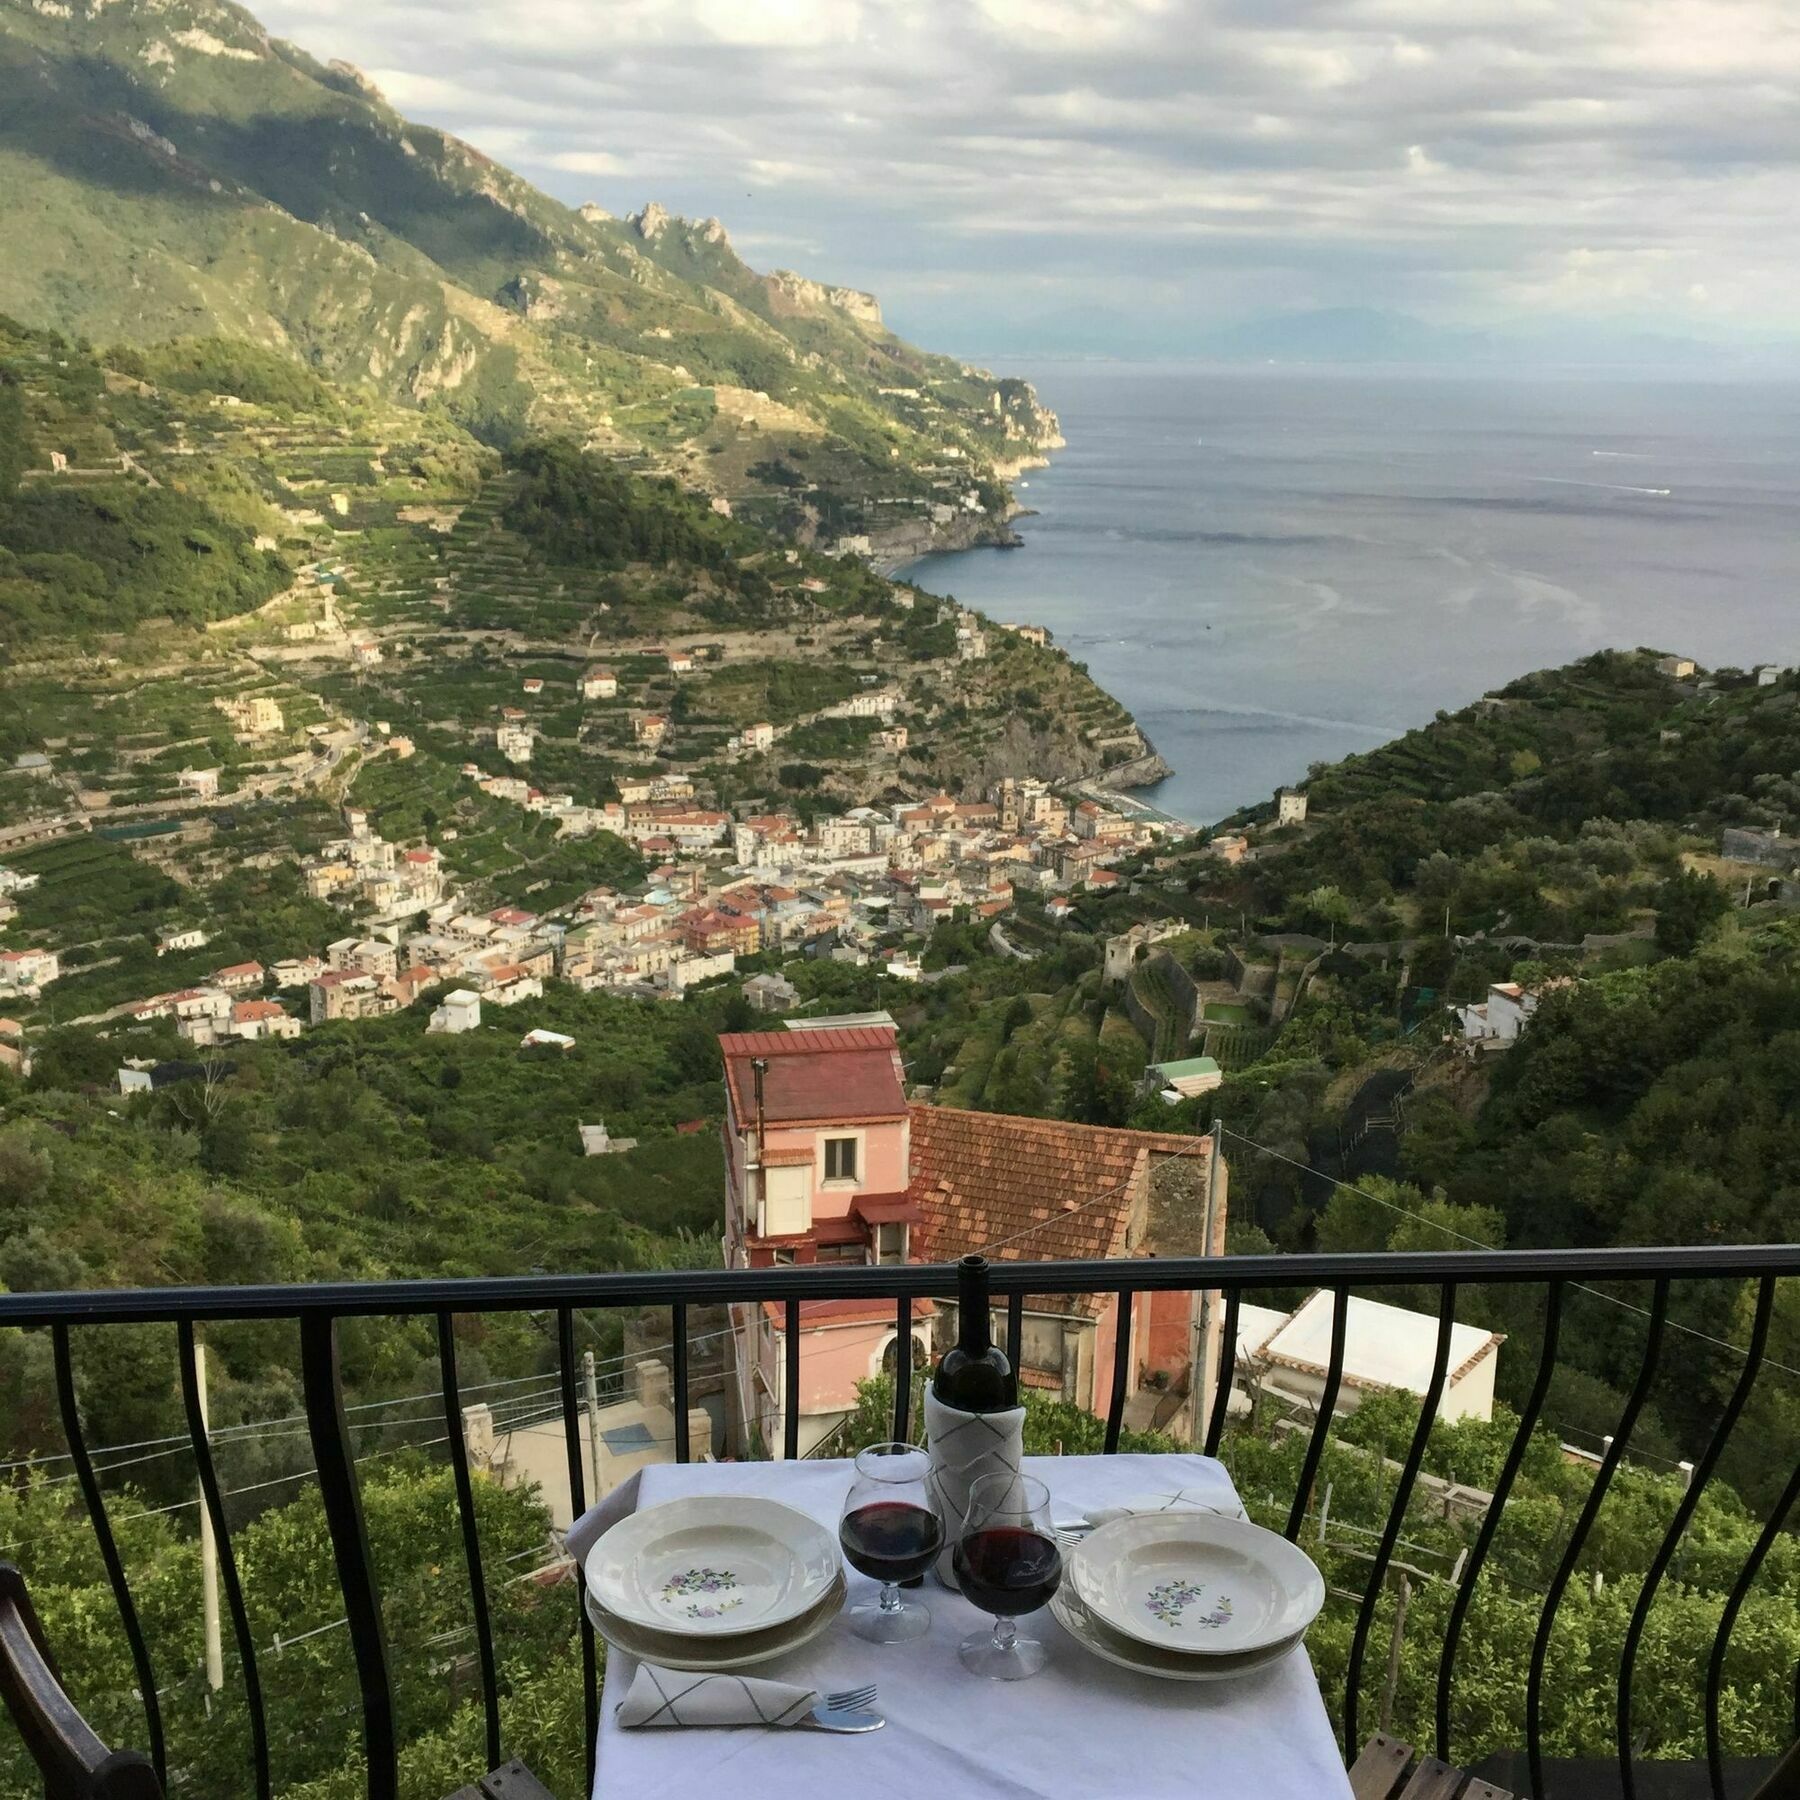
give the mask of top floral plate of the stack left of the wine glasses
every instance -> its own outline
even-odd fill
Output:
[[[626,1625],[682,1638],[769,1631],[837,1580],[832,1534],[751,1494],[697,1494],[634,1512],[587,1553],[594,1598]]]

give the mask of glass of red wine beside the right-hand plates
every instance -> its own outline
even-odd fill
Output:
[[[1049,1489],[1006,1469],[981,1476],[968,1490],[952,1566],[963,1597],[994,1615],[992,1633],[970,1633],[958,1645],[963,1667],[990,1681],[1035,1676],[1049,1651],[1037,1638],[1021,1638],[1013,1622],[1046,1606],[1062,1586]]]

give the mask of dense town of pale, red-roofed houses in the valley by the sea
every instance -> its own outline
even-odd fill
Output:
[[[466,770],[470,774],[470,770]],[[1006,776],[985,799],[950,794],[853,806],[812,819],[796,812],[736,817],[707,808],[693,781],[668,774],[623,781],[621,797],[574,808],[524,781],[481,778],[490,790],[556,815],[567,835],[612,832],[648,864],[632,887],[598,886],[544,914],[477,907],[432,844],[383,839],[358,806],[344,835],[302,864],[306,891],[346,918],[346,932],[288,958],[234,963],[211,979],[113,1010],[135,1022],[169,1019],[198,1048],[295,1037],[338,1019],[373,1019],[454,985],[427,1030],[466,1031],[482,1008],[544,994],[547,981],[643,999],[679,999],[733,976],[743,958],[830,958],[931,981],[922,949],[945,922],[997,922],[1017,893],[1055,900],[1105,891],[1114,864],[1181,828],[1134,808],[1066,796]],[[196,950],[200,927],[171,929],[158,954]],[[58,977],[54,952],[4,952],[0,992],[36,997]],[[745,981],[763,1012],[794,1004],[778,972]],[[283,999],[272,994],[286,995]]]

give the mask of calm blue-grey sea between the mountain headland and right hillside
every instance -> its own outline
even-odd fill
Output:
[[[1046,625],[1210,824],[1517,675],[1800,661],[1800,383],[1046,362],[1022,549],[904,572]]]

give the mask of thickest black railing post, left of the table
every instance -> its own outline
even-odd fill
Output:
[[[349,1420],[344,1417],[337,1318],[329,1312],[306,1312],[301,1318],[301,1381],[306,1391],[313,1462],[319,1469],[319,1496],[326,1508],[338,1591],[344,1595],[344,1618],[356,1658],[356,1685],[362,1690],[362,1744],[369,1766],[369,1800],[396,1800],[400,1744],[394,1732],[394,1690],[387,1676],[387,1631],[369,1559],[369,1530],[362,1517]]]

